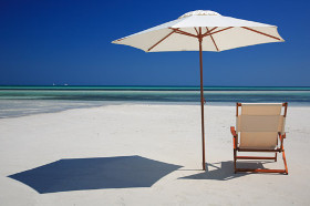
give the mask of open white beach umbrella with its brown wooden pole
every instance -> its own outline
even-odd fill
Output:
[[[215,11],[190,11],[174,21],[118,39],[112,43],[145,52],[199,51],[203,168],[205,164],[203,51],[220,52],[260,43],[282,42],[276,25],[224,17]]]

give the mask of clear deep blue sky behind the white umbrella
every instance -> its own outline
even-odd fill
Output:
[[[193,10],[279,27],[285,43],[204,52],[205,85],[310,86],[307,0],[0,0],[1,85],[198,85],[198,52],[111,41]]]

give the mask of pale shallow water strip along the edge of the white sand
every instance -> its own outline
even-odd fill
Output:
[[[108,105],[193,105],[200,102],[161,101],[70,101],[70,100],[0,100],[0,119],[20,117],[68,110],[91,109]],[[236,106],[236,102],[207,102],[205,106]],[[310,103],[289,102],[289,107],[310,107]]]

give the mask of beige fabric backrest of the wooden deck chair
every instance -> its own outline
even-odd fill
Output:
[[[278,133],[285,132],[286,115],[287,103],[237,103],[239,147],[273,150],[278,144]]]

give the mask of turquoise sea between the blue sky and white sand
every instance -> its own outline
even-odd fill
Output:
[[[207,104],[288,102],[310,105],[310,87],[205,86]],[[0,117],[107,104],[199,104],[198,86],[0,86]]]

